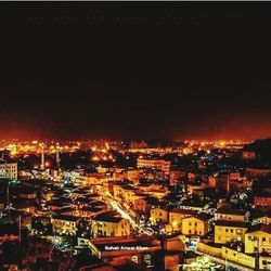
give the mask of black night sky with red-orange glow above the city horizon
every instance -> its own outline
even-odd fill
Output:
[[[271,136],[270,3],[0,4],[0,138]]]

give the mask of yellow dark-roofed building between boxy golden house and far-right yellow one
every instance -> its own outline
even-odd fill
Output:
[[[216,221],[215,243],[227,244],[232,241],[245,241],[245,232],[248,224],[238,221]]]

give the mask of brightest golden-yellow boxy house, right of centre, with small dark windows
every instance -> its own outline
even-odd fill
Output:
[[[182,234],[203,236],[209,231],[210,216],[201,214],[182,219]]]

